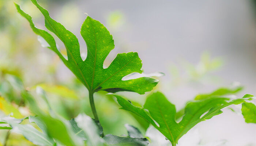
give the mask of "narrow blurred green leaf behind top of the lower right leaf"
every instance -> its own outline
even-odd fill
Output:
[[[242,89],[243,89],[243,87],[241,87],[241,86],[238,86],[234,89],[232,89],[232,88],[219,88],[219,89],[215,90],[212,93],[199,94],[195,97],[195,100],[206,99],[206,98],[211,97],[211,96],[231,95],[231,94],[235,94],[237,92],[240,92]]]

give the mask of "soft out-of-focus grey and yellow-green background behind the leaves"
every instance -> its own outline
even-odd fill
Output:
[[[12,0],[0,0],[1,96],[30,114],[19,94],[19,86],[36,91],[41,85],[49,92],[56,111],[66,119],[79,112],[92,115],[87,89],[76,80],[60,59],[41,46],[29,23],[22,18]],[[15,0],[30,14],[38,28],[44,18],[30,0]],[[255,0],[38,0],[53,19],[73,32],[79,40],[82,58],[86,44],[80,27],[87,15],[103,23],[115,41],[105,61],[108,66],[117,53],[137,51],[146,74],[162,72],[155,91],[162,91],[181,109],[199,93],[219,87],[242,85],[245,93],[256,95],[256,2]],[[56,38],[56,37],[55,37]],[[65,48],[56,38],[61,53]],[[23,83],[21,83],[23,82]],[[53,91],[56,89],[56,91]],[[60,92],[67,94],[60,94]],[[120,92],[143,104],[146,95]],[[105,133],[125,134],[125,123],[143,132],[134,120],[105,92],[95,96]],[[255,102],[255,101],[254,101]],[[60,106],[61,107],[61,106]],[[203,143],[209,146],[255,146],[256,126],[248,124],[239,111],[226,109],[221,115],[202,122],[180,139],[178,146]],[[65,112],[63,112],[65,111]],[[5,132],[1,132],[1,142]],[[27,145],[21,135],[11,135],[8,145]],[[31,144],[31,143],[30,143]],[[32,145],[32,144],[31,144]],[[196,144],[195,144],[196,146]]]

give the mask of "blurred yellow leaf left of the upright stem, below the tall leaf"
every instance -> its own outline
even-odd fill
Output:
[[[61,85],[39,84],[37,86],[41,87],[46,92],[53,93],[61,97],[78,99],[78,96],[74,91]]]

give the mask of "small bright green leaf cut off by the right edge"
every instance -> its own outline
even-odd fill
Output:
[[[242,115],[246,123],[256,123],[256,106],[253,103],[242,104]]]

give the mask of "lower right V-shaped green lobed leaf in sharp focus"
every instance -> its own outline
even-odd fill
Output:
[[[250,100],[241,98],[229,101],[228,98],[211,97],[208,99],[192,101],[186,105],[185,114],[181,122],[177,123],[175,120],[175,106],[160,92],[148,96],[144,108],[133,106],[121,96],[114,96],[116,96],[118,103],[121,105],[121,109],[131,111],[147,120],[165,135],[173,145],[176,145],[178,139],[186,134],[197,123],[221,114],[222,108],[231,104],[241,104],[244,103],[245,100]],[[149,114],[145,110],[148,110]]]

